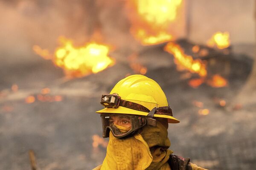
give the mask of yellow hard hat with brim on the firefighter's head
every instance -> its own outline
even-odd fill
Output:
[[[180,122],[172,116],[172,110],[169,108],[169,104],[163,90],[153,79],[143,75],[128,76],[120,80],[112,89],[110,94],[116,94],[122,99],[122,101],[128,101],[135,104],[127,107],[119,105],[119,102],[117,107],[109,108],[105,106],[106,108],[96,111],[96,113],[121,113],[148,116],[148,112],[145,112],[145,110],[137,109],[145,107],[148,111],[154,110],[154,117],[166,118],[169,123]],[[102,97],[104,100],[104,95]],[[166,108],[169,108],[168,111]]]

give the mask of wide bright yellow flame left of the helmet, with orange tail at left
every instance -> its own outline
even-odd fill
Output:
[[[107,45],[89,42],[82,47],[74,47],[73,42],[64,37],[60,37],[59,41],[61,46],[55,50],[51,59],[55,65],[63,68],[68,76],[83,77],[91,73],[96,74],[115,63],[114,59],[108,56],[110,47]],[[51,56],[45,50],[38,50],[36,45],[33,49],[44,58]]]

